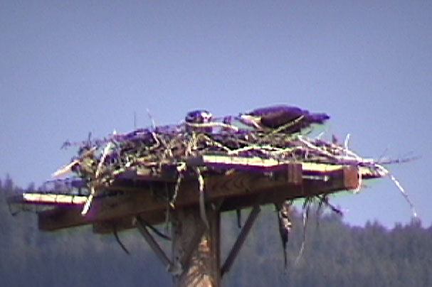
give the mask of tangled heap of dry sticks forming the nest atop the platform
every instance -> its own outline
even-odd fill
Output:
[[[131,170],[154,176],[167,170],[177,175],[188,173],[192,171],[188,165],[191,158],[202,156],[219,156],[221,160],[218,163],[226,161],[226,168],[223,164],[218,168],[202,166],[203,175],[236,167],[263,170],[269,162],[272,163],[270,166],[305,162],[355,165],[368,168],[376,177],[386,175],[383,166],[335,142],[310,139],[301,133],[240,129],[223,123],[185,122],[178,126],[137,129],[128,134],[112,134],[106,139],[67,143],[65,146],[78,146],[78,155],[54,175],[72,172],[75,177],[51,182],[57,190],[61,182],[73,188],[110,185]],[[230,158],[244,161],[237,161],[236,166]]]

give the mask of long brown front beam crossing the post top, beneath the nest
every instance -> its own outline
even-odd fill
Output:
[[[207,200],[213,201],[224,197],[231,197],[241,193],[256,193],[264,188],[288,188],[286,170],[275,173],[273,178],[261,174],[233,173],[231,175],[215,175],[205,180]],[[296,179],[297,180],[297,179]],[[82,224],[90,224],[118,217],[127,217],[143,212],[164,211],[167,208],[166,200],[154,196],[154,191],[174,190],[174,185],[134,183],[129,187],[115,186],[113,189],[127,190],[119,195],[95,197],[87,215],[80,215],[81,207],[57,208],[38,215],[39,228],[42,230],[56,230]],[[153,192],[152,192],[153,191]],[[198,180],[189,180],[181,183],[175,202],[176,207],[186,207],[199,202]],[[147,218],[147,217],[146,217]]]

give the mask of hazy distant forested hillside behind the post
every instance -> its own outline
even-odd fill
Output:
[[[11,215],[6,195],[13,193],[19,188],[12,180],[1,180],[0,286],[171,286],[137,231],[119,234],[130,255],[114,236],[91,227],[39,232],[36,215]],[[432,226],[351,227],[339,215],[312,212],[295,262],[303,228],[300,211],[293,213],[286,268],[275,211],[264,207],[223,286],[432,286]],[[239,232],[235,212],[224,214],[222,224],[223,260]],[[169,250],[169,242],[163,246]]]

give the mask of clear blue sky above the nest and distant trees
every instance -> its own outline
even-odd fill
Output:
[[[2,1],[0,177],[39,185],[63,141],[287,103],[389,166],[432,222],[431,1]],[[334,198],[345,220],[409,222],[384,179]]]

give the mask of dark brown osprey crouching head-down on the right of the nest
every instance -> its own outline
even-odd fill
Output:
[[[252,112],[240,114],[238,120],[247,126],[261,131],[275,131],[293,134],[312,124],[323,124],[330,117],[327,114],[310,113],[305,109],[278,105],[254,109]]]

